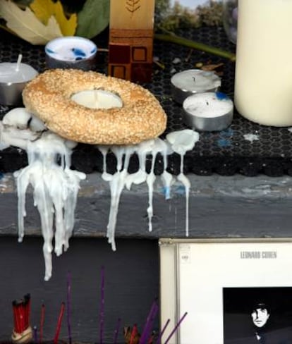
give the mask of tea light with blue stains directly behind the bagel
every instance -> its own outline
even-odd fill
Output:
[[[94,70],[97,46],[90,39],[78,36],[58,37],[44,47],[47,68]]]

